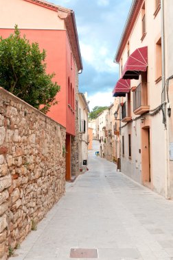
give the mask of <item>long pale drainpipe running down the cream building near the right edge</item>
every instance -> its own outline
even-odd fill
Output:
[[[164,16],[164,0],[161,0],[161,53],[162,53],[162,104],[165,118],[165,198],[169,199],[170,190],[170,172],[169,172],[169,133],[168,120],[165,104],[165,16]]]

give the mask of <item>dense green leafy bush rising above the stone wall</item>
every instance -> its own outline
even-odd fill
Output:
[[[46,73],[45,57],[38,43],[21,38],[17,25],[14,34],[0,37],[0,86],[46,114],[60,86],[51,81],[54,73]]]

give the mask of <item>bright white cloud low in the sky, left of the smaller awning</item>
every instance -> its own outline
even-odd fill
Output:
[[[103,106],[109,106],[111,103],[113,103],[113,93],[111,91],[109,92],[97,92],[93,95],[88,96],[89,100],[89,108],[90,110],[93,109],[93,107],[96,107],[97,105],[100,107]]]

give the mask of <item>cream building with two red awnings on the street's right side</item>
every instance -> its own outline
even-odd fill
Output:
[[[120,70],[115,96],[124,93],[119,107],[122,172],[167,197],[168,125],[162,91],[165,79],[161,2],[132,2],[115,55]],[[165,12],[170,12],[171,5]],[[167,22],[170,21],[167,18]],[[122,80],[127,88],[121,91]]]

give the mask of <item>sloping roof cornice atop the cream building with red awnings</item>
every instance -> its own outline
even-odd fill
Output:
[[[141,10],[141,5],[143,3],[143,0],[133,0],[132,5],[130,8],[130,11],[128,13],[128,18],[126,20],[126,24],[124,26],[124,30],[122,32],[122,37],[119,41],[119,45],[117,47],[117,53],[115,54],[114,62],[119,63],[122,53],[124,51],[124,48],[126,47],[126,44],[128,42],[128,39],[130,37],[130,34],[132,32],[132,29],[135,25],[135,22],[137,20],[137,16],[139,14],[139,11]]]

